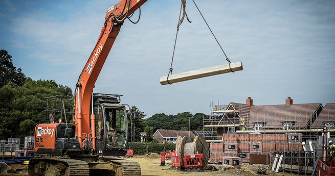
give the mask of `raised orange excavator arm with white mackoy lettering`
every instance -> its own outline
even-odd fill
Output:
[[[83,142],[84,140],[92,141],[92,146],[90,147],[96,148],[95,116],[92,113],[90,118],[90,102],[93,88],[102,66],[120,32],[123,20],[140,8],[146,1],[122,0],[107,9],[104,26],[101,29],[99,39],[76,84],[75,115],[73,116],[73,120],[76,122],[76,136],[81,148],[86,145]]]

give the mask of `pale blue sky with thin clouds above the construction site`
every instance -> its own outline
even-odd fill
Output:
[[[119,1],[0,1],[0,49],[33,80],[75,88]],[[94,92],[123,94],[148,117],[210,114],[214,104],[335,103],[335,1],[196,1],[232,62],[243,70],[162,86],[170,67],[180,1],[149,0],[126,20]],[[226,64],[192,1],[178,32],[173,73]],[[133,20],[138,12],[133,15]]]

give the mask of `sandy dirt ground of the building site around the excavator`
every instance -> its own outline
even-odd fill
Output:
[[[160,166],[161,159],[160,155],[157,154],[157,156],[136,156],[133,158],[125,158],[127,160],[136,161],[140,164],[142,175],[143,176],[152,176],[152,175],[158,175],[158,176],[167,176],[167,175],[173,175],[173,176],[256,176],[261,175],[258,173],[255,173],[254,171],[244,171],[243,169],[229,169],[226,171],[198,171],[198,172],[187,172],[187,171],[181,171],[176,169],[171,169],[171,160],[165,160],[166,166]],[[28,175],[28,165],[13,165],[9,166],[8,169],[22,169],[22,171],[19,171],[18,173],[7,173],[5,171],[4,173],[0,175]],[[270,176],[298,176],[298,174],[292,174],[292,173],[286,173],[286,172],[273,172],[271,170],[267,170],[266,175]]]

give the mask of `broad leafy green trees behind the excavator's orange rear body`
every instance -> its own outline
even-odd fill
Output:
[[[72,90],[53,80],[33,81],[30,78],[21,87],[12,82],[1,87],[0,138],[34,136],[35,126],[44,123],[45,97],[54,95],[70,99]],[[68,121],[70,119],[68,117]]]

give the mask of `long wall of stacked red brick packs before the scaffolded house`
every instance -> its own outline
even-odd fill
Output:
[[[211,161],[239,157],[250,162],[250,154],[302,150],[302,134],[224,134],[223,143],[211,143]]]

